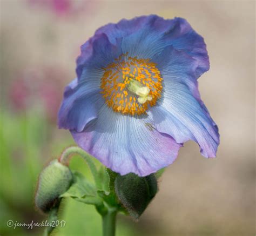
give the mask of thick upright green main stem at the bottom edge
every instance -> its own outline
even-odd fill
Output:
[[[116,231],[116,208],[109,208],[107,213],[102,215],[103,236],[114,236]]]

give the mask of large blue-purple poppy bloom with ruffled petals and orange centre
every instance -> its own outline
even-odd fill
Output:
[[[185,19],[150,15],[107,24],[81,47],[59,128],[122,175],[170,165],[187,140],[215,157],[218,127],[197,82],[208,69],[204,39]]]

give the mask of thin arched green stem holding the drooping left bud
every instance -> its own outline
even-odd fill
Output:
[[[97,168],[95,166],[95,164],[93,163],[92,160],[92,156],[90,154],[88,154],[87,152],[85,152],[83,149],[80,149],[80,147],[68,147],[60,156],[59,158],[59,162],[64,164],[64,165],[68,165],[68,161],[69,158],[73,155],[73,154],[78,154],[79,156],[81,156],[82,158],[84,158],[84,160],[86,161],[86,163],[88,164],[93,179],[95,180],[95,184],[97,187],[101,186],[101,181],[98,175],[98,171]]]

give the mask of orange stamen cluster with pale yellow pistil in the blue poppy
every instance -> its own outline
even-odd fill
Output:
[[[148,106],[156,105],[161,96],[163,78],[150,59],[128,57],[126,52],[104,71],[101,93],[115,112],[132,116],[146,113]]]

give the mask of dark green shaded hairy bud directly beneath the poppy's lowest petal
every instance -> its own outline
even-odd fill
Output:
[[[154,174],[146,177],[118,174],[114,188],[120,203],[137,220],[157,193],[157,179]]]

